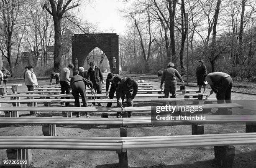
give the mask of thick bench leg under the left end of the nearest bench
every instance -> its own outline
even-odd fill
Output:
[[[20,168],[28,168],[33,161],[31,149],[7,149],[6,154],[8,159],[27,160],[28,164],[24,164]]]

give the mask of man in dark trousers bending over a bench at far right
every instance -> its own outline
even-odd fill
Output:
[[[216,94],[218,103],[232,103],[231,90],[233,86],[233,80],[227,73],[214,72],[204,75],[205,85],[209,84],[212,90],[210,95],[214,92]],[[218,110],[217,113],[223,115],[221,112],[227,109]]]

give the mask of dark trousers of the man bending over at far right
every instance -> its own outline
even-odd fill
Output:
[[[221,88],[217,89],[217,94],[216,94],[218,104],[232,103],[232,100],[231,100],[232,86],[233,86],[233,80],[231,77],[224,78],[222,80]],[[225,113],[226,110],[227,109],[223,108],[222,110],[220,110],[220,113],[221,112]]]

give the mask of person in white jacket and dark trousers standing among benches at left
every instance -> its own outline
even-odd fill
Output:
[[[33,65],[28,65],[28,70],[25,73],[25,85],[27,86],[28,91],[34,91],[34,86],[39,87],[33,69]]]

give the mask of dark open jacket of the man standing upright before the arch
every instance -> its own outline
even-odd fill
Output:
[[[92,68],[88,69],[87,79],[92,81],[92,84],[94,86],[95,85],[100,85],[101,81],[104,80],[102,72],[101,72],[101,70],[100,70],[100,68],[98,66],[95,66],[94,72],[92,71]]]

